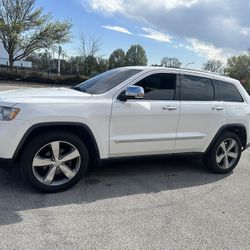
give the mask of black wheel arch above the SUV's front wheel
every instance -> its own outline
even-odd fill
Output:
[[[86,144],[89,150],[90,157],[94,159],[100,160],[100,152],[91,129],[83,123],[74,123],[74,122],[48,122],[48,123],[38,123],[31,126],[21,141],[19,142],[15,153],[13,155],[13,159],[15,161],[20,160],[22,152],[24,150],[25,145],[36,135],[40,133],[45,133],[46,131],[69,131],[77,136],[79,136]],[[83,139],[84,138],[84,139]]]

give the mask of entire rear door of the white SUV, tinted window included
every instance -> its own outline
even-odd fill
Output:
[[[227,122],[224,104],[216,100],[210,78],[188,74],[181,76],[180,101],[175,152],[204,152]]]

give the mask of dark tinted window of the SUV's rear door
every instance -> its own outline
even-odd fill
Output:
[[[214,88],[208,78],[183,75],[181,81],[181,100],[213,101]]]

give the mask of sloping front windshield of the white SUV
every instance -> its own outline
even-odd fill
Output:
[[[109,70],[73,87],[73,89],[93,95],[103,94],[140,71],[127,68]]]

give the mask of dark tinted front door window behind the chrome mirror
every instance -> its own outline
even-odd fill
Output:
[[[145,77],[136,86],[145,91],[145,100],[174,100],[176,75],[159,73]]]

